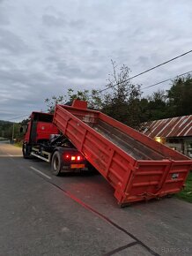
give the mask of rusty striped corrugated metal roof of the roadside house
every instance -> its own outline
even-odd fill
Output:
[[[151,138],[192,136],[192,115],[151,121],[145,127],[143,133]]]

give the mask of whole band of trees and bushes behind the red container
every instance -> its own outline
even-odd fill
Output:
[[[90,109],[99,109],[114,119],[141,130],[145,122],[181,117],[192,114],[192,76],[183,76],[171,81],[169,90],[158,90],[143,96],[142,85],[132,83],[126,65],[118,67],[112,61],[113,72],[108,75],[103,90],[79,90],[69,88],[67,94],[46,99],[48,112],[54,112],[55,104],[85,100]],[[149,86],[150,86],[149,81]],[[107,89],[109,88],[109,89]],[[107,89],[107,90],[105,90]]]

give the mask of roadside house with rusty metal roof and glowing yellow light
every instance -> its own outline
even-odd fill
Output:
[[[192,158],[192,115],[151,121],[143,133]]]

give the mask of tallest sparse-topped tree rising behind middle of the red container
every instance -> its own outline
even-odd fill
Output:
[[[140,86],[130,82],[128,66],[123,64],[118,72],[113,60],[112,65],[113,73],[109,75],[107,85],[111,88],[111,94],[104,95],[102,111],[124,124],[138,128],[142,116]]]

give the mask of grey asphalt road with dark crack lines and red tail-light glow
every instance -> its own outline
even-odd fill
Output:
[[[49,169],[0,144],[0,256],[192,255],[192,204],[120,208],[100,175]]]

